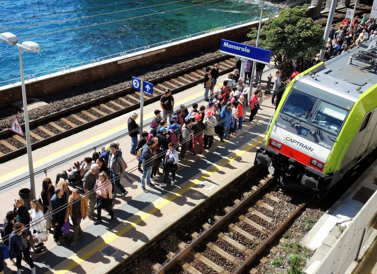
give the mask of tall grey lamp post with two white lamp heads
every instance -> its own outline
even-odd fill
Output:
[[[32,191],[32,198],[35,199],[36,195],[35,195],[35,183],[34,183],[34,168],[33,168],[33,157],[32,157],[32,152],[31,152],[28,104],[26,103],[26,87],[25,87],[25,77],[24,77],[23,63],[22,63],[22,49],[24,49],[24,51],[36,52],[40,50],[40,47],[37,43],[32,42],[32,41],[26,41],[26,42],[23,42],[22,44],[19,44],[17,36],[10,32],[4,32],[0,34],[0,38],[3,41],[6,41],[6,43],[8,43],[9,45],[18,47],[18,57],[20,59],[20,72],[21,72],[22,101],[23,101],[24,116],[25,116],[26,148],[28,150],[30,188]]]

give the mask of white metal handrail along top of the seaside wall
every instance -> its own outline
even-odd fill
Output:
[[[270,18],[271,16],[274,16],[276,14],[278,14],[278,13],[273,13],[273,14],[267,15],[267,16],[263,17],[263,20],[265,20],[267,18]],[[54,73],[54,72],[60,72],[60,71],[64,72],[64,70],[66,70],[66,69],[70,70],[71,68],[82,67],[83,64],[85,64],[85,63],[94,64],[95,62],[98,62],[98,63],[101,64],[101,61],[105,61],[105,60],[110,60],[111,61],[111,59],[115,58],[115,57],[126,58],[127,55],[129,55],[129,54],[136,54],[139,51],[145,51],[145,50],[151,49],[153,47],[167,46],[168,44],[179,42],[181,40],[198,37],[200,35],[209,34],[211,32],[222,31],[224,29],[233,28],[235,26],[241,26],[242,24],[251,23],[251,22],[255,21],[256,19],[257,19],[257,17],[253,18],[253,19],[241,21],[241,22],[238,22],[238,23],[229,24],[229,25],[226,25],[226,26],[221,26],[221,27],[217,27],[217,28],[213,28],[213,29],[208,29],[207,31],[201,31],[201,32],[197,32],[195,34],[185,35],[185,36],[181,36],[181,37],[174,38],[174,39],[171,39],[171,40],[166,40],[166,41],[162,41],[162,42],[159,42],[159,43],[150,44],[148,46],[138,47],[136,49],[130,49],[128,51],[123,51],[123,52],[118,52],[118,53],[115,53],[115,54],[106,55],[106,56],[103,56],[103,57],[98,57],[96,59],[90,59],[90,60],[82,61],[82,62],[75,63],[75,64],[69,64],[69,65],[66,65],[66,66],[63,66],[63,67],[57,67],[55,69],[49,69],[49,70],[44,70],[44,71],[41,71],[41,72],[36,72],[36,73],[33,73],[32,75],[25,76],[25,78],[27,80],[29,80],[31,78],[37,79],[37,76],[40,75],[40,74],[42,74],[42,73],[44,73],[43,75],[47,75],[47,74],[51,75],[51,73]],[[40,75],[40,76],[43,76],[43,75]],[[21,77],[2,81],[2,82],[0,82],[0,87],[5,86],[6,84],[4,84],[4,83],[13,84],[14,85],[15,83],[18,82],[18,81],[15,82],[15,80],[21,81]]]

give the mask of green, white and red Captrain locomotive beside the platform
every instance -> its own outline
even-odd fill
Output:
[[[323,197],[377,145],[377,39],[297,75],[256,153],[277,181]]]

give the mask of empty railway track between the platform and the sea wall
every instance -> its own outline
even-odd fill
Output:
[[[235,59],[229,55],[208,60],[162,77],[150,80],[154,84],[153,96],[144,95],[144,106],[159,100],[166,89],[173,94],[194,87],[204,81],[205,67],[219,63],[219,74],[233,71]],[[66,136],[127,112],[139,109],[140,93],[127,87],[109,95],[63,109],[29,122],[32,149],[42,147]],[[25,124],[21,124],[25,130]],[[0,132],[0,162],[26,153],[26,138],[6,129]]]

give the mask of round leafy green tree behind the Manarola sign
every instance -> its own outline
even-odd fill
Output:
[[[299,54],[312,58],[325,47],[322,26],[314,24],[313,19],[306,15],[307,11],[307,5],[283,9],[277,17],[264,22],[258,46],[272,51],[271,58],[276,65]],[[247,36],[256,39],[257,32],[253,29]]]

